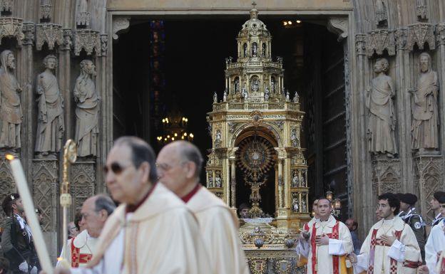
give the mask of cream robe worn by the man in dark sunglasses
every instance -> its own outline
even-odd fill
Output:
[[[88,268],[73,274],[210,274],[195,216],[163,184],[133,214],[121,204],[108,218]]]

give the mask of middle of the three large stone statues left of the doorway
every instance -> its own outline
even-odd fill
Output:
[[[63,98],[58,89],[57,78],[53,71],[57,67],[57,57],[44,58],[45,71],[37,76],[37,132],[36,156],[56,158],[55,152],[62,147],[65,121],[63,119]]]

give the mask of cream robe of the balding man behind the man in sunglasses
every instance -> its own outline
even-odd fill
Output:
[[[223,200],[201,186],[187,206],[198,218],[210,265],[215,273],[249,274],[240,245],[238,219]]]

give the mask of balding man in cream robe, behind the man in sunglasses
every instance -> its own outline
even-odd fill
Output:
[[[214,273],[250,273],[238,238],[237,216],[217,196],[200,184],[203,157],[198,147],[185,141],[160,150],[159,181],[178,195],[193,211],[200,225]]]

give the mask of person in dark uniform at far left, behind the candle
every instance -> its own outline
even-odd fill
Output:
[[[12,273],[37,273],[39,262],[19,194],[6,196],[1,207],[8,216],[2,225],[1,251],[9,260]]]

